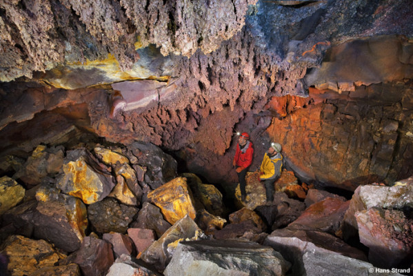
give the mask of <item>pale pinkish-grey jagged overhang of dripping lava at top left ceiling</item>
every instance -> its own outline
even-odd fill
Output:
[[[256,0],[225,1],[2,1],[1,72],[10,81],[64,63],[112,54],[122,70],[150,43],[163,55],[208,53],[241,30]]]

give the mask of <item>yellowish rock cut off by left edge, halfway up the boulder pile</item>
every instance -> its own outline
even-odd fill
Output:
[[[23,199],[26,190],[10,177],[0,178],[0,215]]]

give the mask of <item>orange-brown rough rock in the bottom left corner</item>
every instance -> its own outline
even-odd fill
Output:
[[[8,270],[13,276],[30,275],[39,268],[53,266],[59,259],[66,257],[46,241],[20,235],[8,237],[1,245],[0,253],[8,256]]]

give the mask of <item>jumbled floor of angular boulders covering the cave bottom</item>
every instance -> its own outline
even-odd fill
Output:
[[[413,178],[359,186],[346,198],[283,170],[265,204],[258,172],[248,172],[241,201],[239,186],[205,184],[153,144],[100,142],[2,157],[1,275],[413,269]]]

